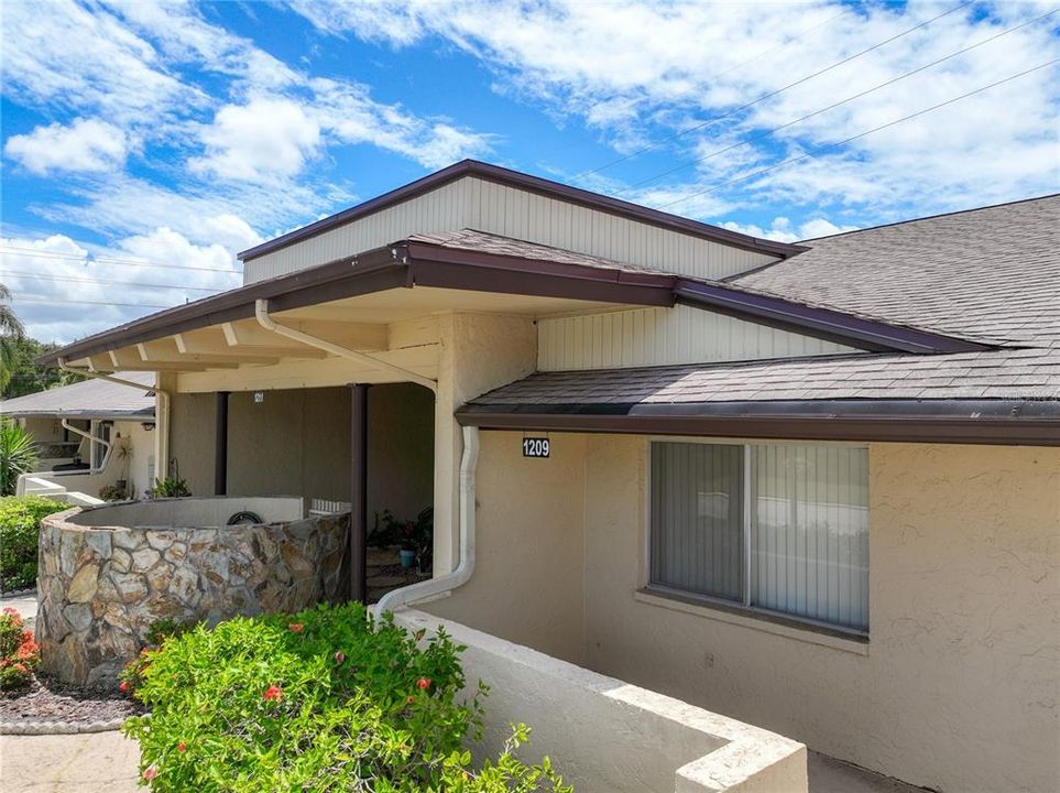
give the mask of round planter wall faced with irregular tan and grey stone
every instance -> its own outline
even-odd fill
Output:
[[[234,526],[91,525],[123,515],[153,522],[166,511],[177,519],[243,509],[267,515],[266,501],[172,499],[171,510],[166,502],[129,503],[45,518],[36,618],[42,671],[79,685],[117,685],[156,620],[214,623],[341,597],[348,513]],[[289,503],[276,501],[272,514],[291,513]]]

